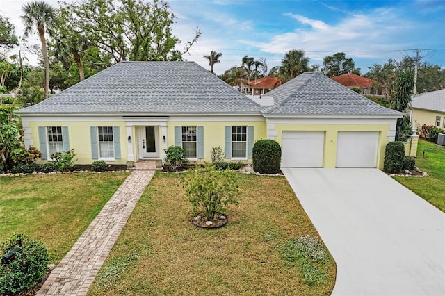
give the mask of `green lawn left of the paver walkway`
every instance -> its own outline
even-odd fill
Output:
[[[57,264],[128,173],[0,176],[0,241],[26,233]]]

